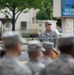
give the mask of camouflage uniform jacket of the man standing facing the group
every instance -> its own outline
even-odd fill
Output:
[[[55,31],[52,31],[52,30],[51,30],[51,32],[50,32],[49,34],[46,33],[46,31],[44,31],[44,32],[42,32],[42,33],[39,34],[38,39],[39,39],[40,41],[42,41],[42,42],[43,42],[43,41],[52,42],[52,43],[54,43],[54,47],[57,48],[58,35],[57,35],[57,33],[56,33]]]

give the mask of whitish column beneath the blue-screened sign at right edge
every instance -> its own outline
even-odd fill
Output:
[[[74,18],[62,19],[62,30],[63,30],[63,34],[73,34],[74,33]]]

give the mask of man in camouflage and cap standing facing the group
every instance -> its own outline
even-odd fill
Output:
[[[57,48],[58,35],[57,35],[57,33],[55,31],[51,30],[51,25],[52,24],[50,22],[45,23],[46,30],[39,34],[38,39],[41,42],[43,42],[43,41],[52,42],[52,43],[54,43],[54,47]]]

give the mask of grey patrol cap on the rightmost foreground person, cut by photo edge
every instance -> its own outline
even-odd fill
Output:
[[[62,47],[62,46],[74,46],[74,36],[64,35],[58,38],[58,47]]]

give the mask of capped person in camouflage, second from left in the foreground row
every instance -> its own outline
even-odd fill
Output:
[[[29,62],[27,66],[31,69],[33,75],[38,75],[38,73],[45,66],[40,62],[42,58],[42,51],[44,51],[41,47],[41,43],[39,41],[30,41],[28,43],[28,54],[29,54]]]

